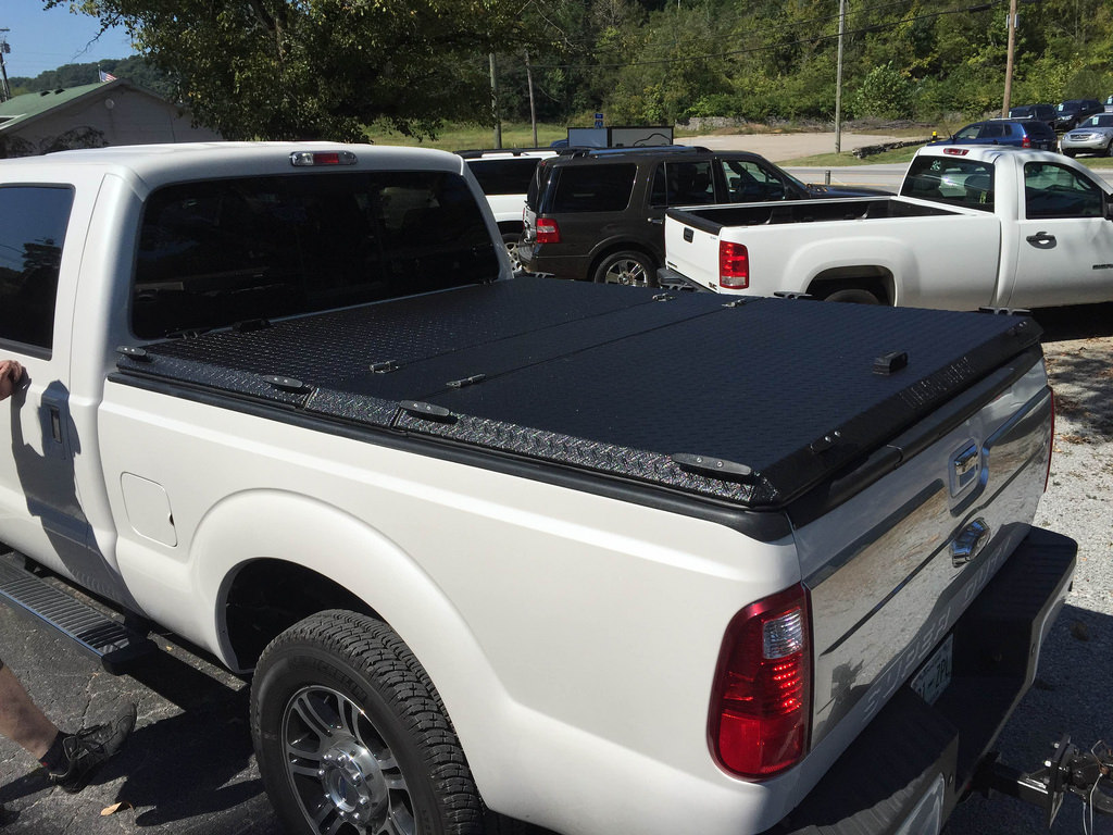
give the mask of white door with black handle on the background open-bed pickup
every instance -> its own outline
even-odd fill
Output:
[[[1012,307],[1113,299],[1113,222],[1105,193],[1065,165],[1024,164]]]

